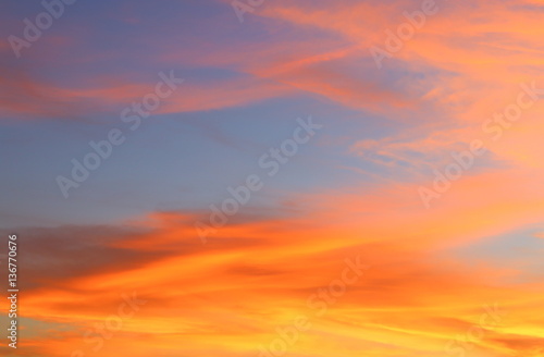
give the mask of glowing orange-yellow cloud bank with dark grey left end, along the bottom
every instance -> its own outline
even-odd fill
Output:
[[[461,212],[443,212],[444,219],[436,218],[435,223],[419,220],[410,225],[412,218],[400,220],[392,210],[400,202],[367,197],[368,205],[379,204],[374,212],[397,223],[385,230],[382,219],[373,214],[343,225],[349,220],[338,218],[355,212],[347,205],[348,197],[336,196],[338,206],[327,204],[337,217],[325,218],[317,210],[239,222],[220,230],[206,246],[191,225],[196,216],[180,212],[156,213],[119,227],[22,231],[29,247],[35,242],[26,251],[33,263],[28,263],[25,279],[36,285],[26,294],[27,316],[49,317],[74,327],[73,332],[42,332],[37,341],[52,341],[51,334],[60,333],[64,344],[76,348],[82,344],[77,331],[83,334],[111,315],[121,294],[133,291],[148,303],[112,340],[104,356],[136,336],[156,341],[168,350],[182,335],[191,335],[184,350],[251,354],[260,343],[274,338],[275,327],[288,324],[290,317],[300,313],[313,317],[313,328],[294,347],[295,355],[314,348],[311,346],[323,335],[346,346],[356,342],[372,345],[376,353],[431,354],[469,329],[473,316],[481,315],[479,306],[494,304],[499,297],[504,309],[517,311],[505,323],[523,331],[527,320],[522,311],[532,310],[528,301],[536,301],[537,291],[530,284],[500,286],[511,274],[508,269],[463,264],[436,250],[436,243],[461,235],[486,236],[478,224],[465,222],[465,233],[445,224],[447,217],[463,222],[471,211],[465,218]],[[346,206],[342,209],[342,205]],[[47,254],[38,256],[44,249]],[[314,317],[316,310],[306,305],[309,296],[338,278],[346,258],[356,257],[371,269],[326,316]],[[55,261],[62,261],[59,269]],[[459,300],[459,294],[463,299]],[[213,343],[203,344],[211,335]],[[532,338],[535,334],[527,330],[522,335]],[[493,336],[495,342],[482,341],[481,348],[490,344],[504,352],[514,348],[503,344],[500,332]],[[332,346],[319,345],[332,353]],[[132,346],[136,356],[144,356],[149,347],[144,340]],[[46,350],[54,356],[64,348],[51,342]]]

